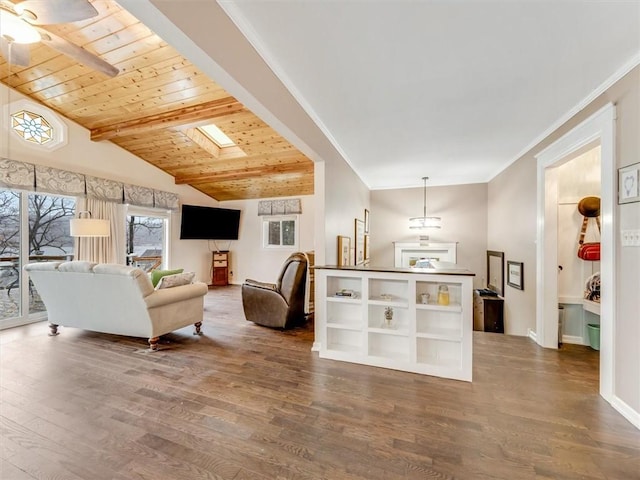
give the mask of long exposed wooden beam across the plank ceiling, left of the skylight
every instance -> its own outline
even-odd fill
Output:
[[[111,140],[117,137],[148,133],[161,128],[179,127],[204,120],[212,120],[242,111],[244,108],[235,98],[225,97],[201,103],[200,105],[178,108],[170,112],[94,128],[91,130],[91,140],[95,142]]]

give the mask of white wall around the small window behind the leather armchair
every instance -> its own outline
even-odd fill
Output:
[[[217,242],[221,249],[231,251],[229,282],[241,285],[247,278],[274,283],[282,264],[293,252],[308,252],[314,249],[314,198],[302,195],[302,214],[298,215],[298,248],[265,249],[262,247],[262,219],[258,216],[259,200],[234,200],[221,202],[223,208],[235,208],[240,214],[238,240]],[[211,242],[213,244],[213,242]]]

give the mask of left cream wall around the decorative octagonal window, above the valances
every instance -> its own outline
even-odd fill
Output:
[[[0,85],[0,112],[5,111],[7,104],[22,99],[26,97]],[[44,109],[42,106],[40,108]],[[51,115],[57,114],[51,112]],[[214,199],[192,187],[176,185],[172,176],[111,142],[92,142],[87,129],[64,117],[57,116],[67,125],[68,142],[67,145],[54,151],[29,145],[7,129],[6,115],[0,115],[0,118],[0,157],[173,192],[179,195],[181,204],[206,206],[217,204]],[[207,242],[181,241],[179,234],[180,215],[173,213],[171,215],[170,267],[182,267],[187,271],[194,271],[197,279],[211,283]]]

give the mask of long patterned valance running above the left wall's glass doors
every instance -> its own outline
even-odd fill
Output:
[[[168,210],[179,208],[179,197],[175,193],[8,158],[0,158],[0,187],[56,195],[86,196],[107,202],[129,203],[139,207]]]

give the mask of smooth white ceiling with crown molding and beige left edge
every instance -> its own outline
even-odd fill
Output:
[[[371,189],[487,182],[640,63],[640,1],[119,3]]]

